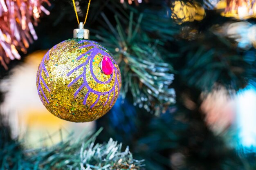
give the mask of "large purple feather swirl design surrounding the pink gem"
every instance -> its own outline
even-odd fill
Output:
[[[90,106],[90,108],[93,108],[98,102],[101,96],[104,95],[108,95],[108,98],[106,100],[106,102],[103,104],[103,106],[105,106],[108,101],[110,100],[110,94],[113,93],[113,97],[111,99],[111,103],[110,106],[112,106],[115,96],[116,96],[116,90],[115,88],[117,87],[117,95],[119,93],[120,90],[120,84],[119,82],[121,82],[121,75],[120,72],[117,68],[117,63],[115,62],[115,60],[111,57],[111,55],[106,52],[107,50],[105,48],[103,48],[102,46],[100,46],[97,42],[91,41],[91,40],[81,40],[78,43],[86,43],[86,45],[83,45],[81,47],[79,47],[79,49],[83,49],[83,48],[87,48],[90,47],[91,49],[89,51],[87,51],[86,53],[81,54],[80,56],[78,56],[76,58],[76,60],[80,60],[82,57],[84,57],[85,55],[88,55],[87,59],[85,60],[85,62],[83,62],[82,64],[80,64],[79,66],[77,66],[76,68],[72,69],[70,72],[67,73],[67,76],[70,76],[72,73],[74,73],[74,71],[77,71],[79,68],[83,67],[83,72],[81,73],[81,75],[79,75],[78,77],[76,77],[72,82],[70,82],[70,84],[68,84],[68,87],[72,86],[75,82],[77,82],[80,78],[83,78],[83,84],[81,84],[81,86],[76,90],[76,92],[74,93],[74,98],[79,94],[79,92],[82,90],[82,88],[87,88],[88,92],[85,94],[84,99],[83,99],[83,104],[86,104],[86,101],[88,99],[88,96],[90,93],[93,93],[95,95],[97,95],[97,99],[96,101]],[[103,56],[107,56],[109,57],[112,62],[114,62],[115,64],[113,64],[114,66],[114,71],[112,73],[112,75],[110,75],[110,78],[106,81],[100,81],[99,79],[97,79],[96,75],[93,72],[93,60],[94,57],[96,55],[101,55]],[[86,65],[89,64],[89,70],[87,70],[88,68],[86,68]],[[109,91],[106,92],[100,92],[97,90],[94,90],[93,88],[91,88],[86,80],[86,72],[90,71],[90,74],[92,75],[93,79],[95,82],[99,83],[99,84],[108,84],[111,81],[115,81],[114,85],[112,86],[112,88]],[[103,73],[102,73],[103,74]],[[115,74],[115,76],[113,76]],[[117,75],[119,75],[119,80],[117,79]]]

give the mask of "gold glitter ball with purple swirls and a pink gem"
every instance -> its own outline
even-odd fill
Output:
[[[74,122],[93,121],[115,104],[121,73],[99,43],[70,39],[56,44],[41,61],[36,85],[45,107]]]

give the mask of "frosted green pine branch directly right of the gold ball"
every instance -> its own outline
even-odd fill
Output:
[[[160,40],[150,38],[141,29],[143,14],[130,12],[122,18],[115,15],[116,26],[110,24],[104,13],[102,17],[108,28],[97,31],[96,38],[119,63],[123,79],[121,96],[124,98],[129,91],[135,105],[159,115],[166,106],[175,103],[175,91],[170,86],[174,70],[164,61],[175,54],[166,51]]]

